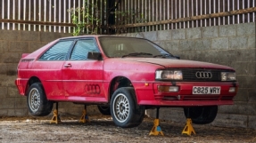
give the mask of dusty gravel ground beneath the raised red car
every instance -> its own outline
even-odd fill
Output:
[[[51,118],[51,117],[50,117]],[[62,123],[50,118],[0,118],[0,142],[256,142],[256,131],[194,125],[196,135],[181,134],[185,123],[161,122],[165,136],[149,136],[153,119],[145,118],[136,128],[122,129],[110,116],[91,116],[90,123],[78,123],[74,117],[63,117]]]

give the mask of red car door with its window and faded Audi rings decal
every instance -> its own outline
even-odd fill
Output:
[[[103,60],[88,60],[88,52],[99,52],[95,39],[79,39],[70,59],[63,65],[62,83],[67,99],[94,101],[104,98]]]

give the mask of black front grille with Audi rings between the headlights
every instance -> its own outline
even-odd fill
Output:
[[[181,69],[183,74],[183,81],[194,81],[194,82],[221,82],[220,72],[227,72],[230,70],[221,69],[205,69],[205,68],[186,68]],[[196,72],[211,72],[211,78],[197,78]]]

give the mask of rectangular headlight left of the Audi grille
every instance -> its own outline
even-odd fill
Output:
[[[182,80],[183,75],[181,70],[157,70],[155,79],[158,80]]]

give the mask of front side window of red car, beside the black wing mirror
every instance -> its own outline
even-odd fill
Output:
[[[93,39],[78,40],[75,45],[70,60],[87,60],[88,52],[99,52]]]

